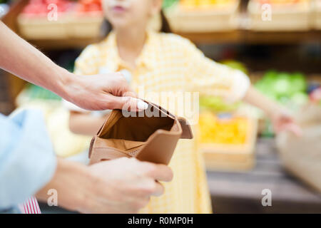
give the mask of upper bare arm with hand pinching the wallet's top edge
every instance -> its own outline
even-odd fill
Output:
[[[120,73],[73,76],[24,41],[0,21],[0,68],[26,81],[47,88],[88,110],[143,110],[147,104],[136,98]]]

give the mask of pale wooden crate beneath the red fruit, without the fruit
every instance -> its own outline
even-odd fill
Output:
[[[18,17],[19,32],[26,39],[68,39],[97,38],[101,33],[101,14],[59,14],[57,21],[49,21],[46,16]]]

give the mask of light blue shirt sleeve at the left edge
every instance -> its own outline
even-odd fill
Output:
[[[24,202],[56,170],[56,155],[39,110],[0,114],[0,209]]]

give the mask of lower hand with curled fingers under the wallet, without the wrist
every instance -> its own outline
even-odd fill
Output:
[[[89,204],[82,212],[136,213],[150,197],[163,195],[158,181],[170,181],[173,173],[165,165],[121,158],[89,167],[94,184]]]

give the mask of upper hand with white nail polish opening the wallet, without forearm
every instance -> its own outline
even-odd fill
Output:
[[[128,109],[145,110],[147,103],[137,98],[121,73],[96,76],[74,76],[66,86],[68,101],[87,110]]]

